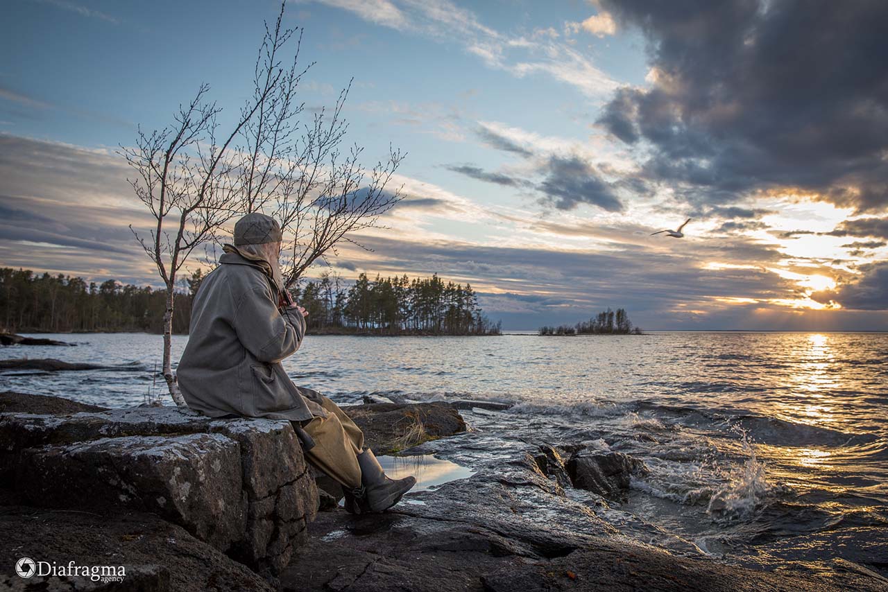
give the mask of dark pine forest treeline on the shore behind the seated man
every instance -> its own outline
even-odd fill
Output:
[[[203,276],[194,272],[176,292],[173,332],[185,334]],[[469,284],[431,278],[369,280],[347,288],[329,273],[291,290],[309,312],[309,333],[344,335],[499,335]],[[11,332],[161,333],[166,292],[117,280],[87,282],[63,274],[0,269],[0,323]]]

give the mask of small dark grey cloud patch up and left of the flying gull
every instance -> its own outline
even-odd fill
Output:
[[[546,178],[537,186],[558,209],[573,209],[581,203],[609,212],[622,211],[622,202],[611,185],[578,156],[552,156],[546,164]]]

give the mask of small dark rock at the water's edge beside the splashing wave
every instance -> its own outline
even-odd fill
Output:
[[[567,462],[567,473],[575,487],[619,499],[629,489],[632,475],[646,473],[644,462],[622,453],[584,450]]]

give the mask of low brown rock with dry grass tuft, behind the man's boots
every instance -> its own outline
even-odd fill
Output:
[[[346,407],[345,411],[377,455],[465,431],[462,415],[447,403],[373,403]]]

